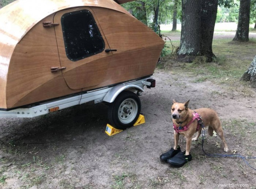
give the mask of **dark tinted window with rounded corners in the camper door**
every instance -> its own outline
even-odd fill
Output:
[[[61,25],[67,57],[77,61],[102,52],[104,40],[88,10],[65,13]]]

